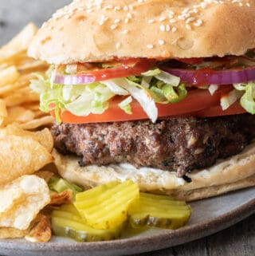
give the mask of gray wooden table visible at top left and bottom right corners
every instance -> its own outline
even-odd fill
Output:
[[[0,0],[0,45],[28,22],[38,26],[68,0]],[[255,215],[209,237],[139,256],[254,256]],[[133,256],[138,256],[133,255]]]

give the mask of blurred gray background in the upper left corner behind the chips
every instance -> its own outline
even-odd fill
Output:
[[[6,44],[27,23],[37,26],[72,0],[0,0],[0,45]]]

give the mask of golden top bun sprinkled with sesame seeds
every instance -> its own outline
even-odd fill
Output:
[[[80,0],[42,26],[29,56],[51,64],[241,55],[255,47],[253,0]]]

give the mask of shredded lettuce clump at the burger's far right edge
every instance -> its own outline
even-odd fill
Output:
[[[238,91],[243,92],[240,104],[245,110],[251,114],[255,114],[255,81],[247,83],[233,84],[233,87]]]

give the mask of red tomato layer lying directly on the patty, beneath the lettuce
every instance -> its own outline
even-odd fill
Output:
[[[206,89],[191,89],[184,100],[174,104],[157,104],[158,116],[179,116],[189,114],[190,112],[198,112],[202,109],[211,108],[220,104],[220,98],[226,93],[230,93],[233,89],[232,85],[224,85],[218,89],[213,96],[210,95]],[[69,124],[84,124],[84,123],[103,123],[114,121],[127,121],[127,120],[146,120],[147,114],[143,111],[141,105],[133,100],[131,102],[132,114],[128,115],[118,104],[124,98],[115,96],[109,108],[100,115],[90,114],[88,116],[75,116],[71,112],[65,111],[61,113],[61,120]],[[55,116],[54,110],[50,112]],[[202,113],[201,113],[202,115]]]

